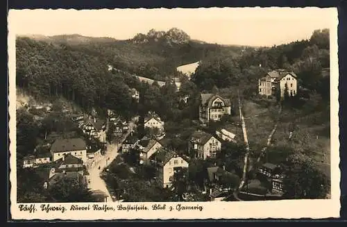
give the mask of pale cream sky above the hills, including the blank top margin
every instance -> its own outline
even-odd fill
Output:
[[[151,28],[182,29],[194,40],[271,47],[309,39],[337,25],[335,8],[198,8],[116,10],[10,10],[17,35],[80,34],[126,40]]]

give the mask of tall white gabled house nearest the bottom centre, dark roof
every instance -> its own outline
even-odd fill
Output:
[[[155,164],[158,181],[162,187],[171,187],[174,182],[174,174],[189,167],[189,163],[174,151],[160,149],[155,154]]]

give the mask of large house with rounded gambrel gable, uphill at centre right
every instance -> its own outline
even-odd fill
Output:
[[[202,124],[219,121],[223,115],[231,114],[229,99],[223,99],[217,94],[201,94],[199,120]]]

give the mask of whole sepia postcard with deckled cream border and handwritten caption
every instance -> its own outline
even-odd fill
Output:
[[[10,10],[12,219],[339,217],[337,9]]]

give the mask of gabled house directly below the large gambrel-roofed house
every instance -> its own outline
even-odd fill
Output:
[[[189,151],[194,151],[197,158],[215,158],[217,152],[221,151],[221,142],[210,133],[195,131],[189,139]]]

